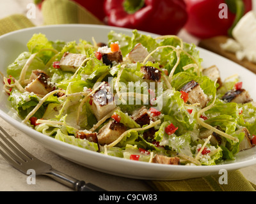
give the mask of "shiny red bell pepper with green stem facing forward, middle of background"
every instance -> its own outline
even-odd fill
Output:
[[[156,34],[177,34],[186,24],[184,0],[105,0],[107,24]]]

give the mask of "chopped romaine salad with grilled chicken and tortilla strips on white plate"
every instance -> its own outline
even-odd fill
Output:
[[[239,76],[178,36],[108,33],[108,42],[31,36],[4,91],[24,124],[84,149],[136,161],[215,165],[256,144],[256,106]]]

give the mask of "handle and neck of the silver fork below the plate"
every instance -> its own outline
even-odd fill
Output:
[[[64,184],[75,191],[106,191],[105,189],[100,188],[99,186],[95,186],[94,184],[86,184],[83,180],[77,180],[69,175],[62,173],[58,170],[52,169],[51,171],[44,173],[47,177],[51,177],[61,184]]]

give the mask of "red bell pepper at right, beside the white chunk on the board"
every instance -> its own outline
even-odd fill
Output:
[[[188,11],[186,31],[198,38],[231,36],[232,28],[252,10],[252,0],[185,0]],[[225,3],[227,10],[220,6]],[[220,17],[225,12],[227,18]],[[219,15],[220,14],[220,15]]]

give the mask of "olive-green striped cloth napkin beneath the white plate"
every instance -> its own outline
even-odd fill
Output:
[[[42,5],[44,25],[52,24],[104,24],[72,1],[46,0]],[[0,20],[0,35],[35,26],[24,15],[12,15]],[[220,175],[211,175],[186,180],[145,180],[154,191],[255,191],[256,186],[249,182],[239,170],[228,171],[228,183],[220,184]]]

